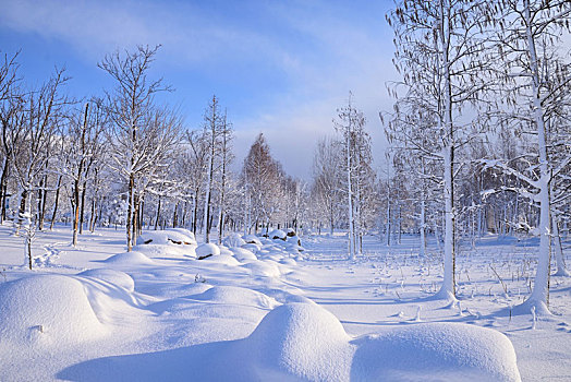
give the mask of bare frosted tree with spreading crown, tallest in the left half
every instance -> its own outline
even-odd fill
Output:
[[[179,141],[180,121],[171,110],[158,108],[155,95],[168,91],[162,79],[151,81],[148,70],[159,46],[108,55],[98,64],[114,81],[107,93],[111,128],[108,136],[110,167],[126,186],[126,246],[131,251],[138,229],[145,184]]]

